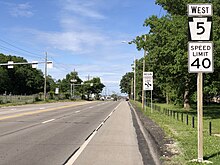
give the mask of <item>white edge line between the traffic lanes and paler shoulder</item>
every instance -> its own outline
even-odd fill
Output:
[[[112,113],[121,105],[121,102],[111,111],[111,113],[107,116],[111,116]],[[106,118],[107,118],[106,117]],[[92,138],[95,136],[97,133],[97,130],[99,129],[100,126],[102,126],[104,122],[99,124],[99,126],[93,131],[92,135],[80,146],[79,150],[69,159],[69,161],[65,165],[73,165],[73,163],[76,161],[76,159],[80,156],[80,154],[83,152],[83,150],[86,148],[86,146],[89,144],[89,142],[92,140]]]

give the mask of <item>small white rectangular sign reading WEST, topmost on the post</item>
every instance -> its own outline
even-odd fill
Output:
[[[188,16],[212,16],[212,4],[188,4]]]

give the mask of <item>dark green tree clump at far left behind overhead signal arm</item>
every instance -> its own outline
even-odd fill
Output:
[[[8,61],[27,62],[22,57],[6,56],[0,54],[0,63]],[[40,70],[31,68],[30,65],[15,65],[13,69],[7,66],[0,67],[0,93],[35,94],[43,91],[44,77]]]

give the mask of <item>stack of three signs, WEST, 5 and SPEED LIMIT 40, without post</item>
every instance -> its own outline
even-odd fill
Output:
[[[212,5],[188,4],[188,70],[213,72]]]

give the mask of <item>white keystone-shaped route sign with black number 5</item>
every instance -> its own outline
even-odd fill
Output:
[[[192,41],[211,40],[212,22],[207,17],[192,18],[189,21],[190,37]]]

